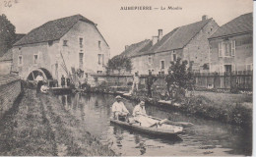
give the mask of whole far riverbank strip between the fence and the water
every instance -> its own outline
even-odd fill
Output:
[[[147,104],[192,114],[204,119],[216,120],[227,124],[252,128],[252,94],[218,93],[213,91],[194,91],[193,96],[179,96],[178,100],[165,100],[160,92],[153,92],[153,98],[147,96],[146,90],[127,95],[127,91],[112,91],[109,88],[96,87],[89,92],[119,94],[137,101],[145,100]]]

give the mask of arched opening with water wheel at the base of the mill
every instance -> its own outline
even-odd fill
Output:
[[[27,79],[33,80],[38,76],[38,74],[41,74],[43,76],[43,78],[53,79],[50,72],[44,68],[38,68],[38,69],[32,70],[32,72],[29,74]]]

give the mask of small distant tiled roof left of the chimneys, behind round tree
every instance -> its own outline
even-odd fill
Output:
[[[121,55],[127,57],[133,57],[140,54],[143,51],[148,51],[152,47],[152,40],[146,39],[138,43],[131,44],[124,50]]]

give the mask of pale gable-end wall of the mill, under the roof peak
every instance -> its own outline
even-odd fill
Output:
[[[67,46],[63,45],[64,40]],[[104,66],[109,60],[110,49],[96,26],[78,22],[60,39],[59,47],[64,59],[68,61],[66,64],[70,71],[71,67],[75,67],[86,72],[105,72]]]

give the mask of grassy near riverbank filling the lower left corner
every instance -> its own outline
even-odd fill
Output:
[[[0,122],[0,155],[112,156],[85,125],[50,95],[25,89]]]

